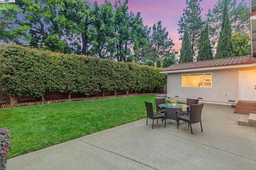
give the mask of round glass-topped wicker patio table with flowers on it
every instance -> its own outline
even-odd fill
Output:
[[[166,111],[166,118],[165,119],[172,119],[174,121],[177,121],[177,116],[176,112],[182,112],[182,108],[189,108],[190,105],[185,105],[185,104],[176,104],[172,105],[172,103],[165,103],[165,104],[160,104],[158,105],[161,107],[164,111]],[[182,115],[181,113],[177,114],[178,116]]]

